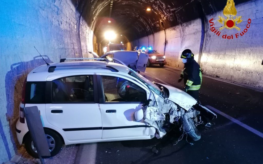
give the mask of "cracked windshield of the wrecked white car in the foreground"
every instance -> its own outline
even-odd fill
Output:
[[[148,86],[148,88],[152,91],[154,91],[156,94],[158,95],[162,95],[162,92],[160,90],[160,88],[155,85],[154,83],[152,83],[151,81],[149,81],[148,79],[146,79],[145,77],[143,77],[142,75],[136,73],[134,70],[130,69],[129,75],[135,77],[136,79],[140,80],[141,82],[143,82],[145,85]]]

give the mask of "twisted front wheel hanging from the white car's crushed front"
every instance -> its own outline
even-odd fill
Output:
[[[193,119],[189,118],[187,115],[183,115],[183,126],[185,132],[194,140],[198,141],[201,139],[201,134],[197,130]]]

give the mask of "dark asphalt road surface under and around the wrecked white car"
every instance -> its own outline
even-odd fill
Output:
[[[159,65],[141,73],[149,80],[182,89],[180,70]],[[66,146],[47,163],[85,164],[262,164],[263,163],[263,92],[203,77],[200,89],[202,105],[216,111],[211,128],[198,127],[199,141],[185,138],[172,130],[162,139],[114,141]],[[156,147],[158,153],[153,153]],[[25,153],[27,154],[27,153]],[[18,163],[35,163],[23,155]],[[70,160],[69,160],[70,159]],[[74,161],[74,162],[72,162]]]

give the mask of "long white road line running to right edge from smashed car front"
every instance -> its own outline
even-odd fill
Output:
[[[217,109],[214,108],[214,107],[211,107],[211,106],[209,106],[209,105],[207,105],[206,107],[208,107],[210,110],[212,110],[212,111],[214,111],[214,112],[220,114],[221,116],[224,116],[225,118],[231,120],[232,122],[234,122],[234,123],[240,125],[241,127],[245,128],[245,129],[249,130],[250,132],[252,132],[252,133],[254,133],[254,134],[260,136],[261,138],[263,138],[263,133],[257,131],[256,129],[251,128],[250,126],[248,126],[248,125],[246,125],[246,124],[244,124],[244,123],[238,121],[237,119],[235,119],[235,118],[233,118],[233,117],[231,117],[231,116],[229,116],[229,115],[227,115],[227,114],[225,114],[225,113],[223,113],[223,112],[217,110]]]

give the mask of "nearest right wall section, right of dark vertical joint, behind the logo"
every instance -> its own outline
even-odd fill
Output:
[[[206,28],[201,66],[203,73],[219,76],[220,78],[233,80],[252,86],[263,88],[263,38],[261,27],[263,25],[263,1],[249,1],[236,6],[237,15],[242,16],[243,21],[235,29],[224,29],[220,38],[217,38],[210,28]],[[209,15],[207,20],[223,16],[222,12]],[[243,36],[235,38],[235,34],[242,33],[246,29],[247,20],[251,19],[250,28]],[[216,19],[217,20],[217,19]],[[214,21],[216,29],[221,26]],[[222,39],[222,34],[233,35],[234,39]]]

